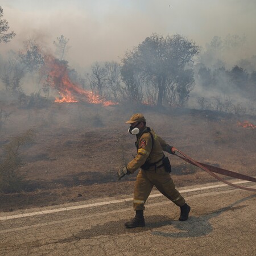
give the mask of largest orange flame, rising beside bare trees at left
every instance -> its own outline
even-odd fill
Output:
[[[103,97],[89,90],[81,89],[74,84],[68,75],[68,65],[66,61],[60,61],[49,55],[45,57],[46,67],[44,73],[47,75],[46,82],[53,86],[60,98],[56,97],[55,102],[79,102],[84,101],[93,104],[102,104],[104,106],[116,105],[112,101],[106,101]]]

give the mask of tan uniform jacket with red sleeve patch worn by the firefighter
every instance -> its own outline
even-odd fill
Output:
[[[148,127],[145,127],[144,130],[137,135],[137,142],[135,142],[138,151],[137,155],[130,163],[127,164],[127,170],[130,171],[132,174],[140,168],[148,159],[149,163],[156,163],[156,166],[160,166],[162,161],[159,162],[164,156],[163,150],[165,151],[167,143],[158,135],[156,135],[154,130],[150,132],[147,131]],[[154,145],[152,147],[152,138],[154,138]],[[155,166],[151,166],[150,169],[154,169]]]

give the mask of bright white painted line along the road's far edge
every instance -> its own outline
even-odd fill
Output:
[[[249,183],[250,181],[237,181],[234,182],[233,184],[242,184],[242,183]],[[218,185],[210,185],[207,187],[199,187],[199,188],[191,188],[191,189],[184,189],[184,190],[179,190],[180,193],[185,193],[185,192],[193,192],[193,191],[201,191],[205,189],[211,189],[211,188],[220,188],[220,187],[226,187],[228,184],[218,184]],[[156,193],[154,195],[150,195],[150,198],[153,197],[159,197],[163,196],[161,193]],[[37,216],[37,215],[42,215],[42,214],[49,214],[49,213],[56,213],[56,212],[65,212],[68,210],[77,210],[77,209],[84,209],[84,208],[90,208],[90,207],[99,207],[102,205],[108,205],[108,204],[118,204],[118,203],[123,203],[126,201],[133,201],[133,197],[126,198],[126,199],[119,199],[119,200],[110,200],[110,201],[104,201],[104,202],[99,202],[99,203],[93,203],[93,204],[82,204],[82,205],[76,205],[73,207],[65,207],[65,208],[58,208],[58,209],[51,209],[51,210],[42,210],[39,212],[30,212],[30,213],[22,213],[22,214],[15,214],[15,215],[9,215],[9,216],[3,216],[0,217],[0,221],[5,221],[5,220],[12,220],[14,218],[23,218],[23,217],[31,217],[31,216]]]

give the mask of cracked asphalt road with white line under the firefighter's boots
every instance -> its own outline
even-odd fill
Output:
[[[0,213],[0,255],[256,255],[254,192],[222,183],[178,189],[189,220],[153,191],[144,228],[123,225],[134,216],[132,195]]]

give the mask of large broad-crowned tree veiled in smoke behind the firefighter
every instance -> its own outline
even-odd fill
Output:
[[[189,65],[198,53],[199,47],[184,36],[164,38],[152,34],[122,59],[123,81],[137,88],[138,81],[142,86],[151,85],[156,90],[158,106],[162,106],[164,100],[173,106],[183,106],[194,84]]]

